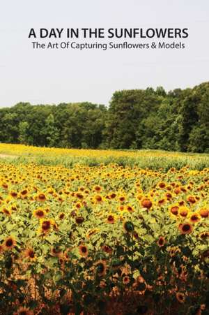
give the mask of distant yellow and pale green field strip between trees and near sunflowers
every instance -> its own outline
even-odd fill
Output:
[[[75,166],[77,163],[100,166],[101,163],[117,163],[119,166],[138,166],[153,170],[177,169],[189,166],[193,170],[209,167],[209,154],[185,154],[159,150],[96,150],[61,149],[31,147],[29,145],[10,145],[0,143],[0,158],[15,159],[15,163],[29,161],[44,165]]]

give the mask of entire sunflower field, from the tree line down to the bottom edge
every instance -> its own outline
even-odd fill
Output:
[[[0,314],[208,314],[208,156],[1,154]]]

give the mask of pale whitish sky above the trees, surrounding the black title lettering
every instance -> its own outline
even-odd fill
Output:
[[[33,50],[29,30],[56,27],[177,27],[188,28],[189,37],[184,50]],[[209,79],[208,31],[208,0],[1,1],[0,107],[20,101],[108,105],[121,89],[194,87]]]

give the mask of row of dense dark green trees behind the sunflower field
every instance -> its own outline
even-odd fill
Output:
[[[194,88],[116,91],[93,103],[0,109],[0,141],[74,148],[209,152],[209,82]]]

